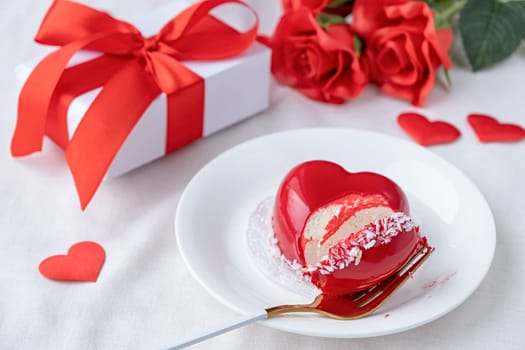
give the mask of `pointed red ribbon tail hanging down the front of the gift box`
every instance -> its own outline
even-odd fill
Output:
[[[82,210],[94,196],[127,136],[160,93],[139,63],[130,61],[95,98],[66,150]]]

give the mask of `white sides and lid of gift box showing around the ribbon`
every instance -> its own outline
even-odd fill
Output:
[[[192,2],[174,0],[144,17],[130,21],[148,37]],[[243,32],[253,25],[255,16],[245,7],[224,4],[212,15]],[[69,66],[85,62],[99,54],[79,52]],[[184,61],[191,71],[204,79],[203,137],[226,128],[268,107],[270,88],[270,49],[254,42],[242,54],[217,61]],[[21,88],[42,57],[20,64],[16,68],[17,84]],[[67,130],[71,139],[82,116],[97,96],[99,89],[77,97],[67,113]],[[166,95],[161,94],[142,115],[114,158],[106,177],[116,177],[166,154]]]

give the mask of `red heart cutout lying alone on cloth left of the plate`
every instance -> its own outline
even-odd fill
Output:
[[[40,263],[38,270],[55,281],[96,282],[106,253],[95,242],[79,242],[69,248],[67,255],[53,255]]]

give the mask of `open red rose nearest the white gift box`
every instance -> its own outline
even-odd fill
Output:
[[[337,24],[325,31],[306,8],[281,17],[270,46],[274,76],[314,100],[343,103],[368,83],[350,27]]]

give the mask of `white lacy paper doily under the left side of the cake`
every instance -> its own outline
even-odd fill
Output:
[[[272,228],[273,198],[263,200],[250,215],[246,231],[248,248],[257,267],[276,284],[308,298],[320,291],[297,261],[284,257]]]

